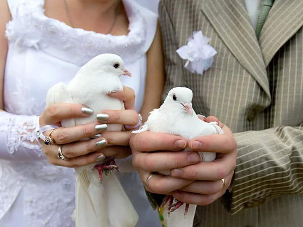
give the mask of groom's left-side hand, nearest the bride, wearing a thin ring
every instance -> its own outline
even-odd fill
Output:
[[[157,174],[150,178],[148,186],[146,184],[146,179],[152,172],[182,168],[199,162],[200,157],[196,152],[177,151],[186,146],[187,141],[184,138],[170,134],[141,132],[131,137],[132,163],[147,191],[171,194],[172,191],[194,182]]]

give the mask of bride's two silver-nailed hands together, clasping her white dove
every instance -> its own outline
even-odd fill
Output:
[[[60,124],[63,119],[87,117],[90,115],[89,108],[80,104],[56,103],[45,109],[39,118],[40,127],[45,125],[59,126],[59,128],[51,134],[56,145],[45,145],[43,141],[41,142],[42,149],[52,164],[66,167],[79,167],[100,161],[105,157],[125,158],[131,155],[129,139],[132,133],[129,131],[102,131],[102,135],[95,139],[78,142],[78,140],[83,138],[100,134],[100,131],[96,130],[97,125],[136,125],[138,123],[139,116],[134,110],[135,95],[131,88],[124,87],[122,92],[112,93],[110,96],[123,100],[125,110],[102,111],[102,113],[108,115],[108,119],[107,117],[104,118],[106,115],[102,115],[103,119],[107,119],[105,121],[64,128],[61,127]],[[43,134],[46,136],[50,132],[51,130]],[[62,154],[68,158],[67,160],[62,160],[58,157],[60,145],[63,145],[61,151]]]

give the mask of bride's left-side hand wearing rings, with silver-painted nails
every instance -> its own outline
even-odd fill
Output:
[[[39,117],[40,127],[46,125],[56,125],[51,137],[55,140],[54,145],[45,145],[41,140],[41,146],[48,160],[54,165],[66,167],[79,167],[96,162],[104,158],[104,153],[100,150],[107,145],[105,138],[96,138],[86,141],[81,139],[98,134],[96,126],[98,122],[91,122],[73,127],[61,127],[60,122],[63,119],[85,118],[90,115],[92,110],[80,104],[56,103],[49,105]],[[47,136],[52,130],[43,133]],[[62,160],[58,157],[58,150],[61,147],[62,154],[68,158]]]

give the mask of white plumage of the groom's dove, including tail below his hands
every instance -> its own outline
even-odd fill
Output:
[[[139,130],[133,131],[133,133],[136,134],[143,131],[168,133],[179,135],[187,141],[199,136],[224,134],[217,122],[207,123],[198,118],[192,109],[191,100],[192,91],[190,89],[184,87],[171,89],[161,107],[151,111],[145,124]],[[188,150],[190,150],[189,147],[186,147],[185,151]],[[216,158],[216,153],[213,152],[198,153],[201,161],[213,161]],[[161,171],[159,173],[169,175],[170,171]],[[165,226],[192,226],[196,205],[189,206],[186,218],[184,218],[184,208],[185,204],[170,213],[170,217],[165,212]]]

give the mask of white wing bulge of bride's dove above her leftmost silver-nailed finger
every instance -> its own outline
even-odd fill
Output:
[[[55,84],[47,91],[46,105],[49,106],[55,103],[74,103],[71,92],[63,82]],[[61,125],[63,127],[75,126],[75,119],[64,119],[61,121]]]

